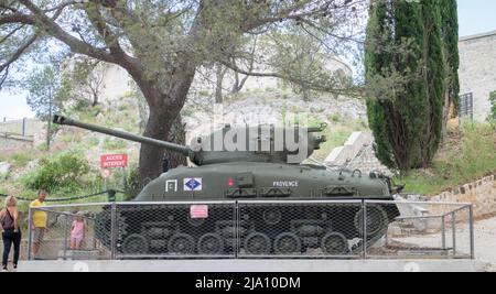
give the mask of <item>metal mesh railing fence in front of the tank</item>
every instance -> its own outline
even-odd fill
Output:
[[[35,207],[33,217],[46,229],[30,221],[29,259],[474,258],[471,204],[128,202]]]

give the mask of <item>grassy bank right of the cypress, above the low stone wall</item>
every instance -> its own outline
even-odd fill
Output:
[[[432,166],[399,176],[407,193],[435,195],[496,172],[496,131],[467,123],[451,130]]]

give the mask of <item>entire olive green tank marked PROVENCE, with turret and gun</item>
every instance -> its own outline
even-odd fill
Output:
[[[151,181],[131,200],[139,206],[119,206],[115,246],[122,254],[222,255],[238,250],[271,255],[320,249],[326,255],[347,255],[382,238],[399,216],[396,205],[387,203],[395,192],[389,177],[303,163],[325,142],[317,133],[326,126],[225,126],[185,146],[61,116],[53,121],[188,157],[192,166],[172,168]],[[216,138],[227,137],[237,146],[215,148]],[[288,137],[295,144],[287,143]],[[378,202],[364,209],[365,199]],[[238,208],[214,203],[223,200],[239,200]],[[111,215],[105,209],[96,218],[96,235],[107,247]]]

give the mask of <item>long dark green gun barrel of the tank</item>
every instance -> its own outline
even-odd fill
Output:
[[[192,154],[193,154],[193,151],[188,146],[183,146],[183,145],[166,142],[166,141],[161,141],[161,140],[142,137],[142,135],[136,135],[132,133],[118,131],[118,130],[114,130],[114,129],[109,129],[109,128],[105,128],[105,127],[99,127],[99,126],[95,126],[95,124],[90,124],[90,123],[85,123],[85,122],[76,121],[76,120],[73,120],[73,119],[69,119],[66,117],[62,117],[62,116],[54,116],[53,122],[56,124],[73,126],[73,127],[82,128],[82,129],[98,132],[98,133],[105,133],[105,134],[118,137],[121,139],[140,142],[143,144],[163,148],[163,149],[166,149],[170,151],[181,153],[185,156],[192,156]]]

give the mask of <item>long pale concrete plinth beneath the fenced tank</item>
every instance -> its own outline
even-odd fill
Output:
[[[22,261],[19,272],[482,272],[474,260]]]

